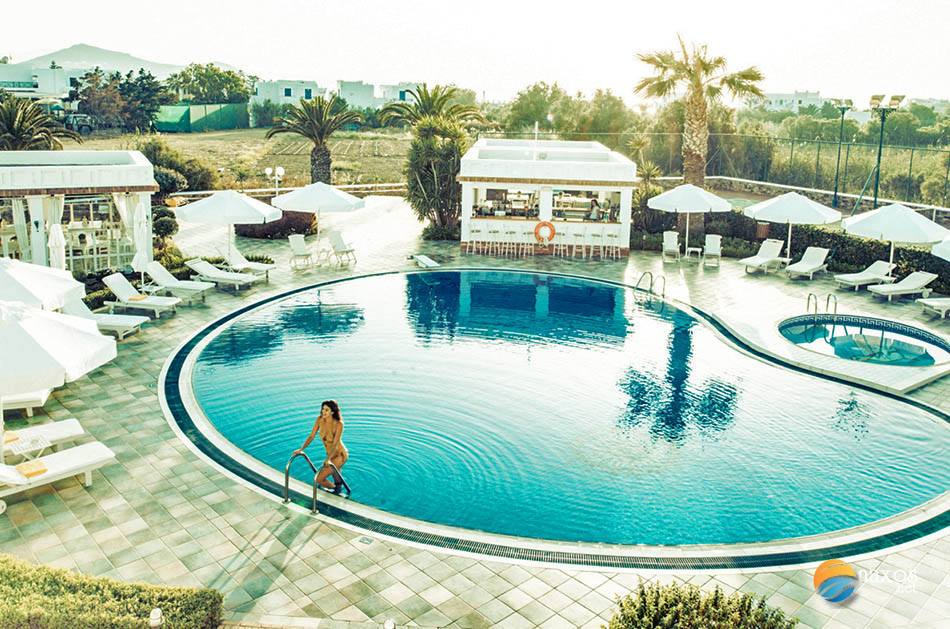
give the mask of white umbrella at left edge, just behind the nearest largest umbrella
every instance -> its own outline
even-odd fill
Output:
[[[19,301],[35,308],[56,310],[85,294],[86,287],[68,271],[0,258],[0,301]]]

